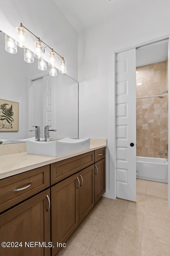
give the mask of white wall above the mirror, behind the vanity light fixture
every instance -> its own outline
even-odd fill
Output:
[[[0,30],[15,38],[15,27],[21,22],[65,58],[68,75],[77,80],[77,32],[53,0],[3,1]],[[28,39],[28,48],[32,49],[32,38]]]

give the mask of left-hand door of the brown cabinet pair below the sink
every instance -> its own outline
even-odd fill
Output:
[[[79,225],[78,174],[61,181],[51,188],[52,243],[65,243]],[[60,250],[54,246],[52,255]]]

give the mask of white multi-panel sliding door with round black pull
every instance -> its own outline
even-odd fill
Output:
[[[116,190],[136,202],[136,49],[116,54]]]

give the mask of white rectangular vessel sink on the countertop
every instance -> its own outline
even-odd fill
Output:
[[[28,141],[27,153],[36,155],[49,155],[58,157],[59,155],[66,155],[76,151],[89,149],[90,138],[87,139],[70,139],[64,138],[58,141]]]

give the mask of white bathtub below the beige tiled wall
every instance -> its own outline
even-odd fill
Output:
[[[136,157],[136,177],[168,183],[168,161],[165,158]]]

